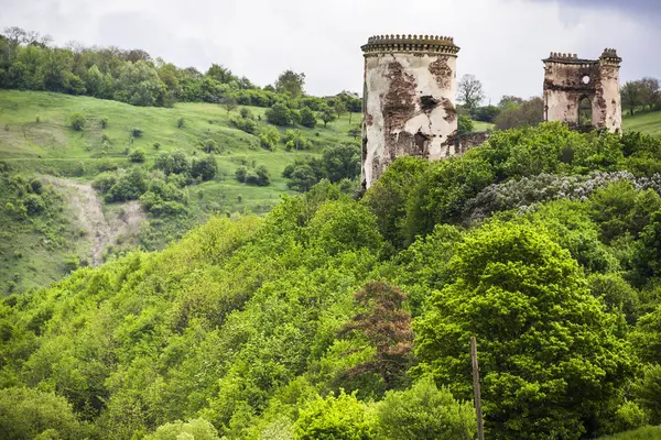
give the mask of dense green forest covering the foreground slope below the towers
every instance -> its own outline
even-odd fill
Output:
[[[561,124],[322,180],[0,306],[7,438],[489,439],[661,424],[661,141]],[[649,428],[651,429],[651,428]]]

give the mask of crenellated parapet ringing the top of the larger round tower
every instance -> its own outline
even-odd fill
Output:
[[[454,44],[451,36],[437,35],[375,35],[364,45],[365,56],[375,56],[392,53],[420,53],[454,55],[459,47]]]

